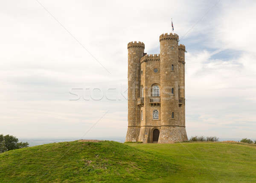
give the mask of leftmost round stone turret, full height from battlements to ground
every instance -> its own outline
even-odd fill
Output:
[[[137,141],[140,133],[140,59],[143,57],[143,42],[128,43],[128,130],[125,141]]]

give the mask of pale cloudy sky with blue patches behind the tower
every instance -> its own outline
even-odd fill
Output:
[[[186,46],[186,131],[256,138],[256,1],[0,1],[0,134],[127,130],[127,44]]]

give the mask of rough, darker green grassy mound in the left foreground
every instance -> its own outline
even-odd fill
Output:
[[[0,183],[140,182],[168,172],[175,173],[175,166],[163,156],[113,141],[45,144],[0,154]]]

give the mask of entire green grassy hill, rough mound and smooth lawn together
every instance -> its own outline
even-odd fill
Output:
[[[0,154],[0,183],[256,182],[256,146],[62,142]]]

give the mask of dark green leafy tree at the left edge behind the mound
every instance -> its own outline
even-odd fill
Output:
[[[18,142],[19,139],[12,135],[3,135],[0,134],[0,153],[13,150],[20,149],[23,147],[29,146],[27,142]]]

